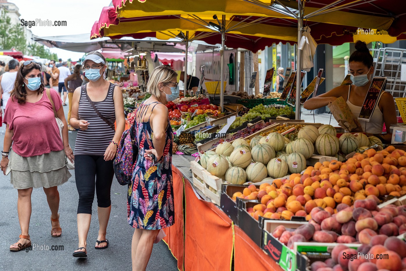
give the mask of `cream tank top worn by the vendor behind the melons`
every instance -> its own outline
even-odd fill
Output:
[[[349,88],[348,88],[347,104],[348,104],[348,107],[350,107],[354,117],[357,118],[359,115],[359,112],[361,112],[362,107],[353,105],[350,102],[350,91],[351,91],[351,85],[349,85]],[[382,96],[382,94],[383,94],[383,91],[378,98],[378,104],[379,104],[379,100],[380,100],[380,97]],[[358,120],[358,121],[361,124],[361,127],[365,132],[375,133],[375,134],[382,133],[384,119],[383,119],[382,111],[380,111],[380,108],[378,105],[376,105],[374,113],[372,114],[369,122],[366,122],[364,120]]]

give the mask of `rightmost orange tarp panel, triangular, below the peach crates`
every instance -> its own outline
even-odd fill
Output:
[[[283,271],[270,256],[266,255],[239,227],[234,227],[234,270],[235,271]]]

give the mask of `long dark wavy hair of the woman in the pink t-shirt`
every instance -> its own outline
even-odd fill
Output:
[[[27,92],[24,87],[24,77],[29,74],[32,70],[40,70],[41,71],[41,66],[39,66],[38,63],[31,62],[30,64],[24,66],[21,65],[18,70],[17,70],[17,77],[15,78],[14,82],[14,87],[13,90],[10,92],[10,98],[13,100],[13,98],[17,99],[18,103],[25,103],[26,102],[26,96]],[[45,89],[44,82],[42,80],[41,76],[41,85],[39,86],[37,90],[37,94],[39,95],[40,93],[43,93]]]

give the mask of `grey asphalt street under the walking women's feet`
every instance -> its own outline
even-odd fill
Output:
[[[64,106],[67,115],[68,106]],[[0,127],[0,144],[3,144],[5,125]],[[76,131],[69,131],[69,142],[75,146]],[[112,208],[107,228],[107,249],[94,249],[99,230],[97,219],[96,195],[93,201],[93,215],[87,238],[87,258],[74,258],[72,253],[78,248],[78,230],[76,211],[78,207],[78,191],[76,190],[75,173],[58,187],[60,194],[60,225],[62,236],[51,236],[50,209],[42,188],[32,192],[32,214],[30,220],[30,236],[35,249],[32,251],[10,251],[11,244],[17,242],[21,229],[17,214],[17,189],[10,184],[10,177],[0,174],[0,270],[119,270],[130,271],[131,238],[134,229],[127,223],[127,186],[120,186],[113,179],[111,188]],[[63,245],[63,250],[51,250],[52,246]],[[43,250],[41,250],[41,246]],[[45,247],[44,247],[45,246]],[[49,247],[49,250],[47,247]],[[38,250],[37,250],[38,249]],[[160,241],[153,246],[148,271],[177,270],[177,260],[172,256],[168,246]]]

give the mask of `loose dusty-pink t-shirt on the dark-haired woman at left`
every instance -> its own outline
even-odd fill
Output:
[[[51,88],[51,97],[58,111],[62,101],[58,92]],[[62,139],[56,124],[52,104],[43,93],[37,103],[17,103],[9,99],[4,112],[3,123],[13,130],[13,151],[24,157],[31,157],[63,150]]]

